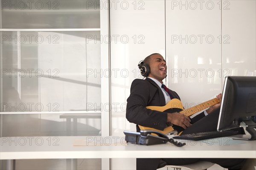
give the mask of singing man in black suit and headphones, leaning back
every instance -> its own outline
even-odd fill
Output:
[[[160,54],[154,53],[146,57],[141,73],[146,79],[135,79],[131,84],[131,94],[127,99],[126,119],[129,122],[145,127],[163,130],[170,124],[178,125],[185,129],[185,133],[197,133],[217,129],[220,104],[209,107],[193,119],[181,113],[166,113],[147,109],[146,106],[164,106],[170,99],[180,97],[175,91],[164,87],[163,79],[166,78],[166,61]],[[221,94],[217,96],[221,100]],[[208,115],[209,114],[209,115]],[[192,125],[193,124],[193,125]],[[196,161],[211,161],[222,167],[238,170],[245,159],[137,159],[137,170],[156,170],[166,164],[182,165]]]

